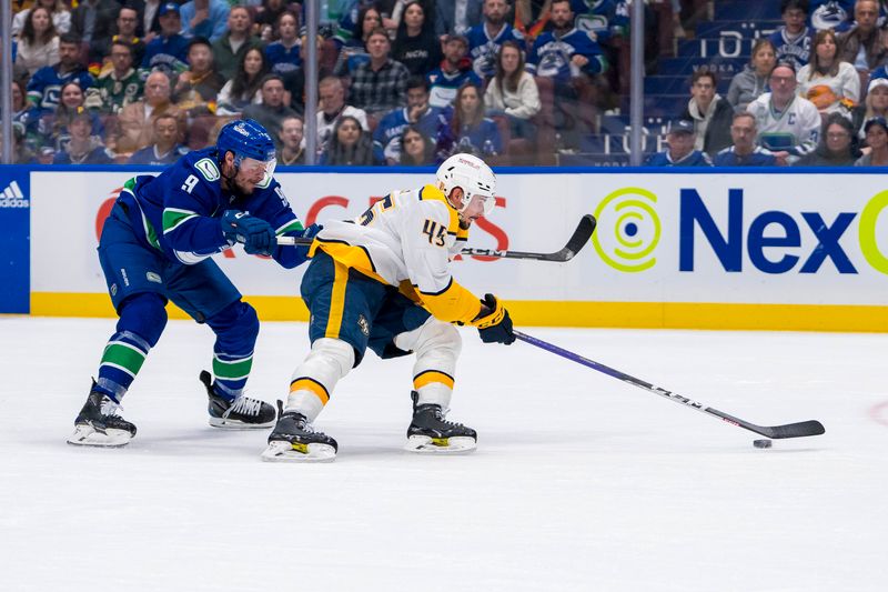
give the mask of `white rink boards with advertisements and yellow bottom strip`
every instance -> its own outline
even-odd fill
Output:
[[[888,331],[881,174],[529,171],[498,174],[497,208],[473,229],[470,245],[555,251],[585,213],[596,215],[598,229],[567,263],[453,264],[473,291],[508,301],[517,323]],[[8,188],[0,197],[0,312],[113,315],[95,247],[117,192],[137,172],[0,168]],[[430,172],[290,169],[276,178],[301,218],[323,223],[360,215],[393,189],[428,182]],[[28,218],[30,237],[6,230]],[[301,269],[240,248],[216,260],[261,318],[307,319],[297,298]]]

